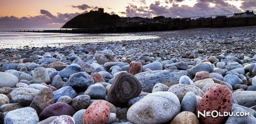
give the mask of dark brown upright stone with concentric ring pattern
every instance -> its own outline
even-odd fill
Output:
[[[107,99],[116,107],[126,107],[141,92],[140,82],[127,72],[119,73],[109,89]]]

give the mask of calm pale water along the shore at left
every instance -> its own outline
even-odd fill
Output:
[[[33,33],[12,31],[43,31],[59,30],[57,28],[0,28],[0,48],[29,47],[61,47],[64,45],[81,45],[84,43],[122,41],[157,38],[152,34],[141,33],[114,33],[114,34],[66,34],[66,33]],[[64,29],[66,30],[66,29]],[[67,29],[69,30],[69,29]]]

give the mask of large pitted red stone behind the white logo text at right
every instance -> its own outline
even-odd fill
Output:
[[[232,92],[227,86],[221,85],[212,88],[207,91],[202,99],[199,101],[197,111],[204,113],[212,112],[214,110],[220,112],[222,115],[224,112],[230,112],[233,106]],[[199,116],[200,124],[223,124],[227,120],[228,116],[218,116],[216,118],[211,116],[203,117]]]

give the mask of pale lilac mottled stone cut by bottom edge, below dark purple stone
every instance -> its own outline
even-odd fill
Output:
[[[49,124],[75,124],[74,119],[71,116],[68,115],[61,115],[54,119]]]

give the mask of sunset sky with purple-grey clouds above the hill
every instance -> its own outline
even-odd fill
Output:
[[[0,28],[61,28],[90,10],[121,17],[193,17],[256,11],[256,0],[0,0]]]

